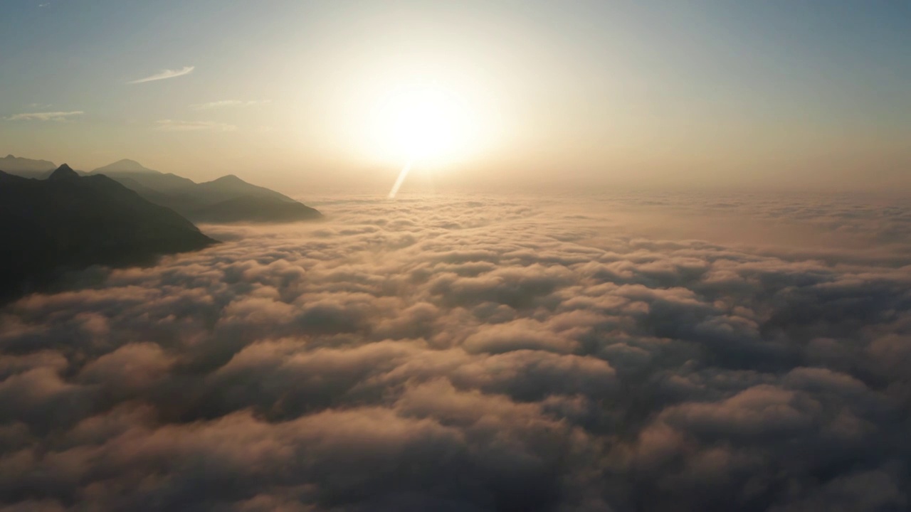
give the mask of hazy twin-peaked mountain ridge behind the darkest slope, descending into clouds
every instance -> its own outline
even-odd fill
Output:
[[[116,179],[143,198],[193,221],[288,222],[322,218],[322,213],[309,206],[234,175],[196,183],[128,159],[95,169],[92,174]]]

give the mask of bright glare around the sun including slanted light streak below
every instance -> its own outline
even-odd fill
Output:
[[[364,164],[399,169],[390,198],[410,172],[434,179],[477,159],[500,136],[491,88],[466,73],[433,75],[377,66],[338,93],[343,108],[331,127],[347,140],[344,150]]]

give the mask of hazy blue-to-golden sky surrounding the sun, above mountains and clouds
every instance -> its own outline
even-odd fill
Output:
[[[892,1],[5,0],[0,152],[386,183],[378,106],[433,87],[466,139],[440,181],[896,189],[909,24]]]

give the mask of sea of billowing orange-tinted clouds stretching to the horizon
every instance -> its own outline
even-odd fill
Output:
[[[0,510],[911,507],[911,209],[322,200],[0,309]]]

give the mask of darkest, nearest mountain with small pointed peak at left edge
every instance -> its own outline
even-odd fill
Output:
[[[80,177],[67,164],[41,180],[0,172],[0,240],[0,301],[62,271],[146,264],[216,243],[114,179]]]

